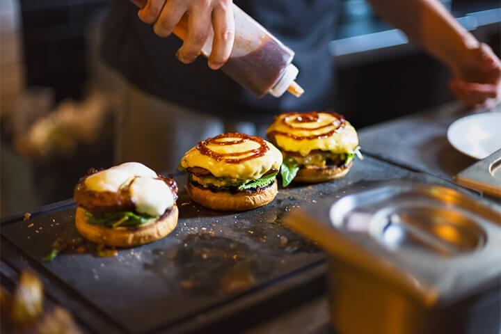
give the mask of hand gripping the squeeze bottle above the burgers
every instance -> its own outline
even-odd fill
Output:
[[[182,63],[192,63],[200,54],[210,29],[214,29],[214,41],[209,55],[209,67],[217,70],[230,56],[234,39],[232,0],[132,0],[141,6],[138,17],[147,24],[154,24],[159,37],[170,35],[177,24],[189,13],[186,37],[177,51]]]

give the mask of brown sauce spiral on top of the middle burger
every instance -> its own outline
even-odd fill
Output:
[[[219,141],[221,138],[235,138],[234,141]],[[260,145],[259,148],[254,150],[247,150],[244,152],[234,152],[234,153],[218,153],[207,148],[207,145],[238,145],[245,143],[246,141],[254,141]],[[263,138],[256,136],[248,136],[247,134],[220,134],[212,138],[208,138],[205,141],[200,141],[196,145],[196,149],[200,151],[201,154],[207,155],[216,161],[225,161],[228,164],[240,164],[241,162],[262,157],[266,152],[269,151],[269,147]],[[252,154],[251,154],[252,153]],[[250,154],[248,157],[237,159],[235,157],[241,157],[242,155]]]

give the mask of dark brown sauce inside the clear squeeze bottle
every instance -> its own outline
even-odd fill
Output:
[[[258,97],[282,77],[292,57],[278,42],[265,38],[260,47],[241,57],[230,57],[221,70]]]

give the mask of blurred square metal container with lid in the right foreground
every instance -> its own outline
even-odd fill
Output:
[[[330,254],[335,333],[499,334],[499,206],[415,180],[356,188],[286,220]]]

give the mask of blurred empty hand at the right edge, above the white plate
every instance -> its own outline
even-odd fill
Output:
[[[479,43],[463,56],[461,65],[451,66],[449,82],[456,98],[470,108],[492,108],[501,100],[501,61],[491,47]]]

